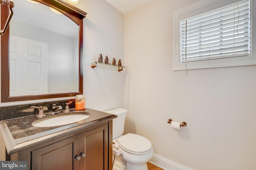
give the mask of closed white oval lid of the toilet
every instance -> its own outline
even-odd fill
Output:
[[[118,139],[120,147],[131,153],[146,152],[151,149],[151,143],[145,137],[128,133]]]

